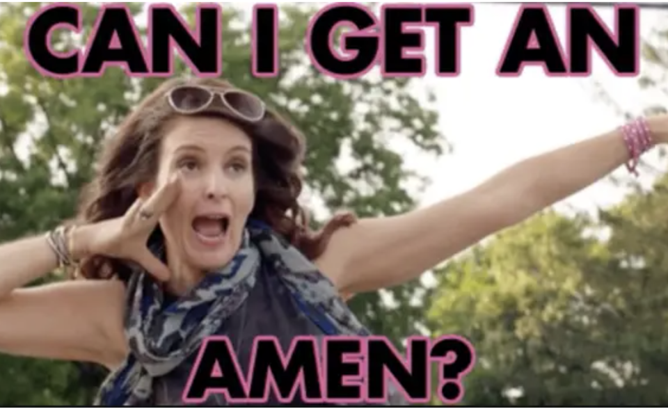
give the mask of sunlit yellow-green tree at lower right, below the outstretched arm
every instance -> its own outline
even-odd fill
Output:
[[[547,211],[440,271],[431,328],[478,354],[466,403],[668,403],[667,192],[663,178],[598,221]]]

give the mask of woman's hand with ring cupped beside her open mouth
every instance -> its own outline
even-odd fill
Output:
[[[75,235],[74,256],[106,255],[131,260],[146,268],[157,280],[168,280],[169,269],[146,244],[160,216],[169,209],[180,191],[180,178],[175,175],[147,200],[138,198],[124,216],[78,227],[72,232]]]

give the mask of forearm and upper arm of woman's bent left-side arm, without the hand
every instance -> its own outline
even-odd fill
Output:
[[[74,231],[79,232],[86,234]],[[105,328],[121,320],[120,282],[77,280],[21,288],[58,266],[44,236],[0,245],[0,260],[1,353],[108,366],[118,360]]]

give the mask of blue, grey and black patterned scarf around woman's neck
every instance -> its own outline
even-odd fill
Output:
[[[152,251],[162,255],[161,249]],[[95,404],[144,406],[150,401],[153,378],[182,364],[237,311],[253,289],[261,264],[278,273],[325,335],[369,335],[312,262],[266,225],[251,222],[232,261],[170,305],[164,305],[164,294],[148,273],[134,273],[125,316],[131,352],[106,379]]]

